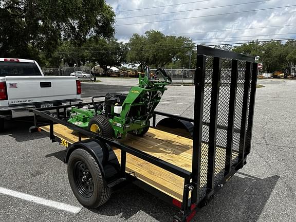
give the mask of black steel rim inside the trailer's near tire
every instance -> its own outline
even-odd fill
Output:
[[[74,168],[74,181],[81,195],[90,197],[94,193],[94,181],[87,165],[82,161],[77,161]]]

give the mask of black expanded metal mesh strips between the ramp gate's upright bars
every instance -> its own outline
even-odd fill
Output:
[[[217,110],[217,130],[216,130],[216,147],[214,166],[208,165],[209,158],[209,139],[213,135],[209,135],[210,115],[211,115],[211,96],[212,96],[212,82],[213,82],[213,57],[206,57],[205,68],[205,88],[204,88],[204,101],[202,112],[202,143],[201,143],[201,165],[200,165],[200,199],[204,198],[207,194],[208,177],[214,176],[214,186],[217,186],[224,178],[226,167],[226,147],[227,147],[227,127],[229,120],[229,106],[230,104],[230,87],[231,87],[231,73],[232,73],[232,60],[220,58],[220,80],[218,90],[218,110]],[[233,133],[233,147],[231,156],[231,165],[238,162],[239,154],[239,140],[243,112],[244,100],[244,84],[246,61],[238,61],[237,73],[237,88],[236,88],[236,101],[235,101],[235,116],[234,116],[234,133]],[[250,80],[251,81],[251,80]],[[249,87],[250,88],[250,87]],[[249,89],[250,90],[250,89]],[[248,97],[248,104],[250,101],[250,91]],[[249,111],[249,105],[248,111]],[[247,118],[248,119],[248,118]],[[214,175],[212,169],[214,167]]]

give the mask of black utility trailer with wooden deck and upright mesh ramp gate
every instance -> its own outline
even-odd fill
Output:
[[[143,137],[116,140],[84,130],[67,122],[70,106],[31,110],[49,124],[30,131],[66,147],[69,182],[83,206],[104,204],[130,181],[177,207],[172,221],[190,221],[243,168],[251,148],[257,64],[248,55],[197,46],[196,67],[193,118],[154,112]],[[156,124],[158,116],[164,119]]]

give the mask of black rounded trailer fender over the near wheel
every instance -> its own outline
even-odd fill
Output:
[[[77,149],[86,150],[98,162],[106,182],[119,178],[120,164],[111,147],[97,139],[87,139],[73,143],[67,150],[64,162],[69,161],[71,153]]]

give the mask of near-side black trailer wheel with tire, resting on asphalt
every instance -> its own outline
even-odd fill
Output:
[[[77,149],[71,153],[68,178],[74,195],[86,208],[95,209],[110,198],[110,190],[97,161],[85,150]]]

